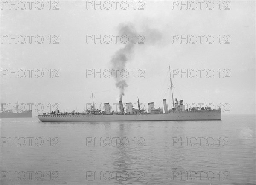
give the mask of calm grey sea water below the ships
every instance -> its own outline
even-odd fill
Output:
[[[1,119],[0,184],[256,184],[255,120]]]

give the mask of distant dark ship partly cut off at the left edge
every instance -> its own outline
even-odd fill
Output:
[[[32,117],[32,110],[19,112],[18,107],[16,107],[16,112],[13,112],[12,109],[4,110],[3,104],[1,104],[0,118],[31,118],[31,117]]]

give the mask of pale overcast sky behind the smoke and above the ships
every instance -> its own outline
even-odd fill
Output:
[[[195,10],[191,10],[194,7],[192,3],[188,10],[183,6],[180,9],[180,6],[172,6],[174,1],[141,1],[140,4],[137,1],[136,10],[133,1],[128,2],[126,10],[124,3],[122,7],[118,3],[115,9],[112,1],[109,10],[109,4],[101,10],[100,7],[88,7],[89,1],[58,1],[59,4],[52,4],[49,10],[47,2],[43,1],[41,10],[36,9],[35,4],[30,10],[28,3],[24,10],[21,10],[22,4],[17,5],[17,10],[12,6],[9,10],[9,5],[1,6],[1,103],[41,103],[44,112],[48,111],[49,103],[57,103],[61,111],[83,111],[86,103],[92,103],[91,91],[97,104],[117,103],[119,88],[116,88],[116,79],[100,78],[100,75],[94,78],[94,74],[88,75],[87,71],[113,69],[111,59],[119,49],[122,51],[131,42],[121,43],[119,37],[115,43],[112,37],[109,44],[104,40],[102,44],[99,40],[94,43],[94,40],[87,40],[87,35],[97,35],[98,38],[100,35],[120,35],[126,32],[122,32],[122,28],[128,28],[137,39],[131,50],[125,53],[125,69],[129,75],[125,78],[128,87],[125,87],[123,103],[137,103],[138,96],[146,108],[148,102],[154,102],[156,108],[163,107],[164,98],[170,105],[170,65],[171,69],[177,69],[173,72],[195,69],[191,70],[188,78],[185,74],[181,78],[180,74],[174,75],[174,98],[183,99],[188,104],[222,104],[223,110],[226,108],[230,114],[255,114],[255,1],[230,0],[229,4],[222,4],[221,10],[218,1],[214,1],[212,10],[209,4],[208,7],[203,4],[201,10],[199,3]],[[37,6],[40,8],[40,4]],[[53,10],[54,6],[58,10]],[[9,43],[9,35],[12,38],[17,35],[17,44],[15,40]],[[32,43],[29,43],[28,36],[26,43],[19,43],[23,42],[22,37],[18,40],[20,35],[34,35]],[[37,35],[42,35],[43,43],[35,42]],[[58,36],[53,38],[54,35]],[[138,38],[139,35],[143,36]],[[194,42],[195,37],[191,37],[187,44],[186,40],[180,43],[179,38],[175,40],[175,35],[182,35],[183,38],[195,35],[198,40],[192,44],[190,42]],[[202,43],[198,35],[205,35]],[[207,35],[212,35],[208,37],[209,42],[214,38],[212,44],[206,42]],[[139,44],[142,38],[144,44]],[[58,44],[52,44],[54,41]],[[5,74],[6,70],[9,73],[9,69],[13,72],[15,69],[34,71],[32,78],[29,78],[28,71],[25,78],[20,78],[22,71],[17,78],[15,75],[9,78],[9,74]],[[35,76],[37,69],[44,72],[42,78]],[[202,78],[198,69],[204,69]],[[211,71],[214,72],[212,78],[207,77],[208,69],[208,76],[212,75]],[[195,78],[192,78],[193,71],[198,72]],[[53,78],[54,74],[59,78]],[[139,78],[140,74],[144,78]],[[223,107],[224,104],[226,107]],[[32,110],[35,116],[34,105]]]

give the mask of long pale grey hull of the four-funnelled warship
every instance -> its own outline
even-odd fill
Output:
[[[174,111],[168,114],[140,115],[38,115],[38,119],[43,122],[221,120],[221,109],[202,111]]]

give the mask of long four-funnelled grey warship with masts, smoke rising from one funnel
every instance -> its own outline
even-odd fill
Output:
[[[96,109],[93,105],[84,112],[60,112],[59,110],[51,113],[38,115],[40,121],[175,121],[175,120],[221,120],[221,108],[211,109],[210,107],[193,107],[186,109],[183,100],[173,99],[172,77],[170,72],[170,88],[172,93],[172,106],[168,109],[166,99],[163,99],[163,107],[156,109],[154,102],[148,103],[148,110],[140,108],[138,98],[138,109],[132,103],[123,104],[119,101],[119,112],[111,111],[111,105],[104,103],[104,111]],[[93,99],[93,93],[92,93]],[[126,109],[124,108],[124,105]]]

